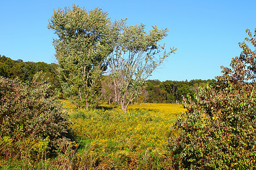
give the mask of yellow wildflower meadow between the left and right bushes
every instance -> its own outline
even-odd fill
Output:
[[[172,169],[170,127],[185,109],[178,104],[129,105],[127,112],[102,104],[93,111],[64,101],[78,145],[68,154],[77,169]]]

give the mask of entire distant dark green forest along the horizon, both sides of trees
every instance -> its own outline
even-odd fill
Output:
[[[44,62],[23,62],[22,59],[13,60],[6,56],[0,55],[0,76],[14,79],[18,77],[22,81],[31,81],[33,75],[38,71],[43,71],[48,82],[54,87],[61,90],[61,84],[57,76],[56,63]],[[102,102],[113,104],[116,99],[114,95],[114,84],[111,82],[108,75],[102,80]],[[173,81],[166,80],[147,80],[147,86],[142,89],[142,94],[134,101],[135,103],[179,103],[183,96],[191,95],[199,91],[199,87],[209,83],[211,86],[216,85],[215,79],[201,80],[195,79],[190,81]]]

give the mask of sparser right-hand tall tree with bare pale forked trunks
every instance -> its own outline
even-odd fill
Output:
[[[127,26],[125,20],[113,24],[115,44],[108,61],[115,99],[123,111],[141,93],[152,71],[176,50],[167,52],[164,45],[158,45],[167,36],[167,28],[158,29],[155,25],[148,33],[145,29],[144,24]]]

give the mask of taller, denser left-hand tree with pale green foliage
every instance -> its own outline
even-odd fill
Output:
[[[54,11],[48,28],[59,62],[59,78],[65,95],[81,107],[94,108],[100,95],[100,76],[104,59],[112,52],[110,20],[100,8],[86,12],[73,5]]]

